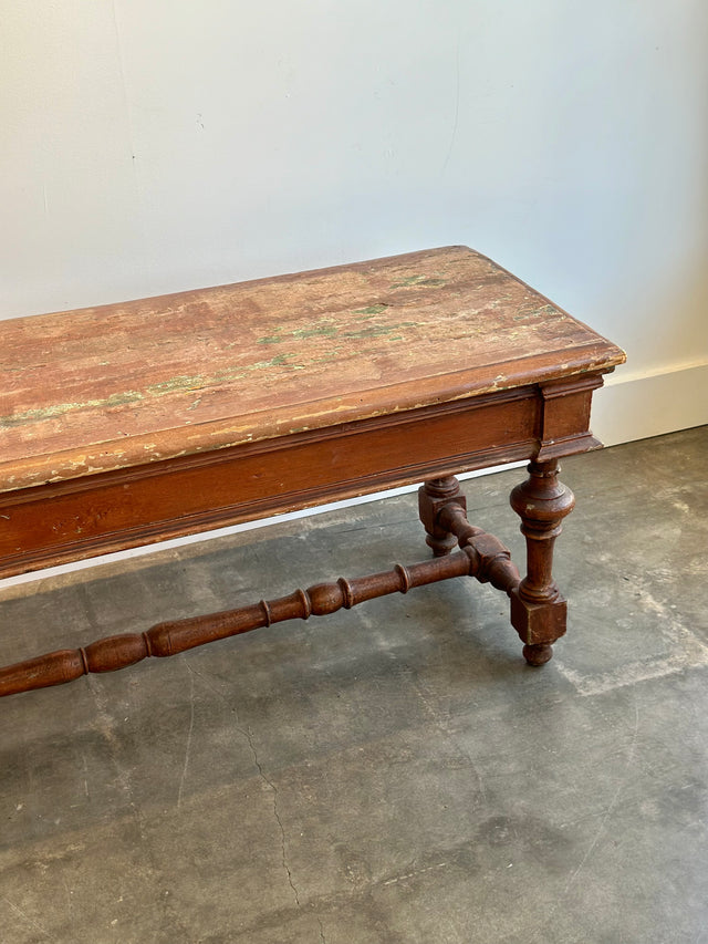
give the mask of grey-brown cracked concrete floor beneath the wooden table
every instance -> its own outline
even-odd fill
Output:
[[[4,699],[1,941],[708,942],[708,427],[563,465],[544,668],[458,579]],[[520,562],[522,477],[465,487]],[[403,497],[6,589],[0,661],[426,552]]]

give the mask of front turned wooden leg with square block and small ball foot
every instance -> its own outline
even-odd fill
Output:
[[[528,470],[528,479],[511,492],[527,539],[527,575],[511,592],[511,623],[525,643],[527,662],[543,665],[553,654],[551,644],[565,632],[568,604],[551,571],[553,544],[575,499],[558,480],[555,459],[532,461]]]

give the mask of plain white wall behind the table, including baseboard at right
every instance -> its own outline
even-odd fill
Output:
[[[465,242],[708,422],[706,0],[1,9],[1,317]]]

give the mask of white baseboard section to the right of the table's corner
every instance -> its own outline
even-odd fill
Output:
[[[620,367],[593,397],[592,428],[605,446],[708,424],[708,364],[624,374]]]

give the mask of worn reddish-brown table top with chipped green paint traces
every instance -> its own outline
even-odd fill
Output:
[[[461,246],[0,322],[0,491],[611,370]]]

